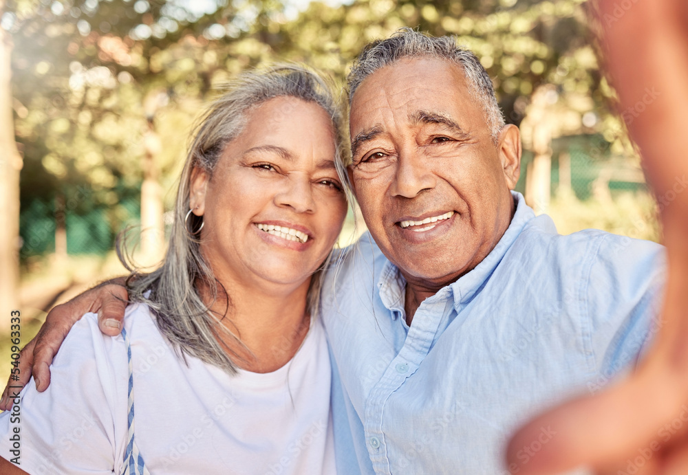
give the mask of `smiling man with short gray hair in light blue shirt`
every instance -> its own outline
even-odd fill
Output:
[[[401,30],[361,53],[349,86],[369,233],[321,298],[340,472],[515,473],[510,432],[636,361],[663,248],[535,217],[512,191],[519,131],[453,38]],[[519,464],[556,437],[541,427]]]

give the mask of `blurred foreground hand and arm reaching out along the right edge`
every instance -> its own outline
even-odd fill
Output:
[[[513,437],[507,459],[526,475],[579,465],[688,474],[688,2],[602,0],[600,14],[621,113],[661,211],[669,261],[662,328],[632,377],[531,421]],[[557,437],[522,465],[518,448],[542,426]]]

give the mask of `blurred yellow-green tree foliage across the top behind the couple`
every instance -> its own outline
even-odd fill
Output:
[[[160,179],[171,186],[217,85],[275,60],[309,63],[341,82],[366,43],[402,26],[454,34],[473,49],[508,122],[519,124],[533,92],[549,84],[567,133],[599,133],[612,153],[633,153],[608,109],[614,91],[590,46],[583,0],[314,1],[297,14],[276,0],[206,3],[7,2],[23,204],[81,186],[93,203],[116,208],[118,190],[142,181],[151,128],[164,144]]]

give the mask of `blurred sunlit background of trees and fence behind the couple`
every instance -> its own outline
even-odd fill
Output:
[[[23,344],[45,311],[164,252],[193,120],[216,87],[275,60],[340,83],[369,41],[398,27],[454,34],[522,131],[517,189],[568,234],[660,239],[656,203],[603,72],[581,0],[0,0],[0,335]],[[614,14],[623,14],[623,8]],[[614,22],[608,16],[603,21]],[[652,100],[648,91],[647,100]],[[142,230],[142,231],[141,231]],[[349,217],[342,241],[352,235]],[[0,377],[9,346],[1,337]]]

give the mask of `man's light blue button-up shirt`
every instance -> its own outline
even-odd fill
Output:
[[[338,470],[507,474],[509,435],[536,412],[596,392],[658,325],[664,248],[599,230],[561,236],[522,195],[475,269],[422,302],[365,234],[325,280]],[[519,452],[527,461],[552,437]]]

